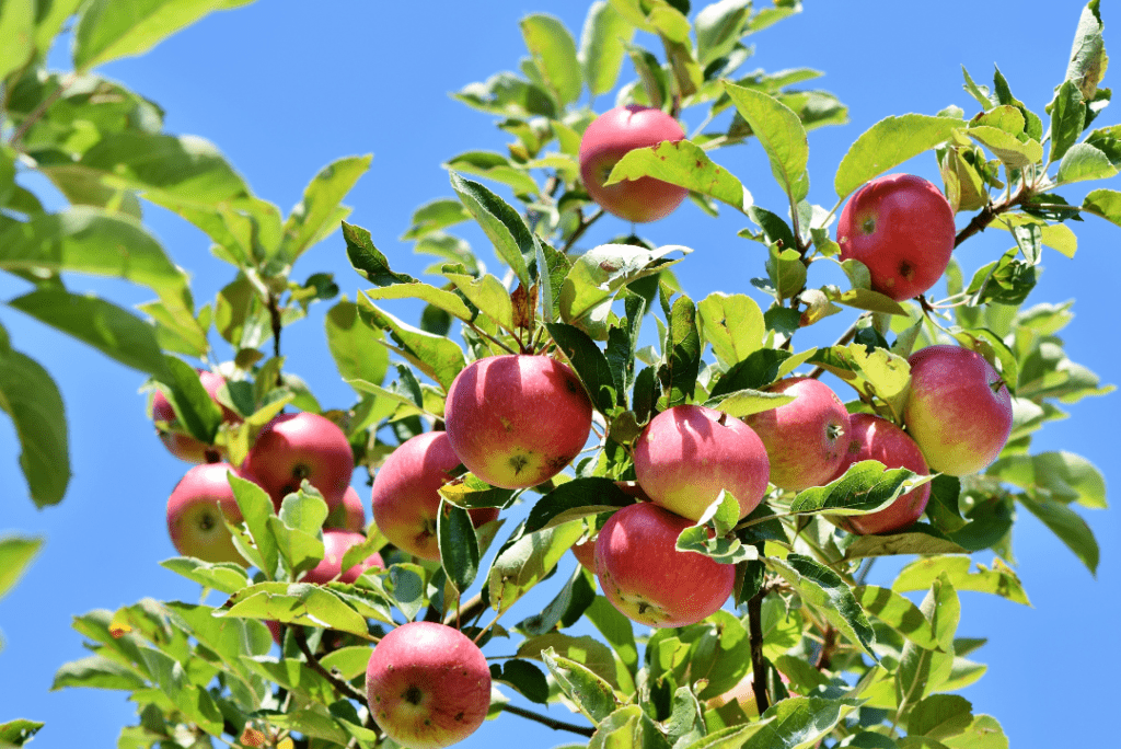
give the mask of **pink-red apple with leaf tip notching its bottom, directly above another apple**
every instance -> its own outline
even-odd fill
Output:
[[[634,475],[650,499],[698,520],[722,489],[745,518],[767,492],[770,462],[750,426],[705,406],[674,406],[634,442]]]

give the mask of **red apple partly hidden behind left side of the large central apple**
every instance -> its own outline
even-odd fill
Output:
[[[395,546],[423,560],[439,562],[436,514],[439,488],[460,464],[446,432],[426,432],[406,440],[389,454],[373,478],[373,521]],[[467,510],[478,528],[498,518],[497,507]]]

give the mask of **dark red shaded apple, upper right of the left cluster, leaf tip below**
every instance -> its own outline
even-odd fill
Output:
[[[269,492],[278,511],[304,479],[333,510],[343,503],[350,486],[354,453],[346,435],[330,419],[309,412],[280,414],[261,428],[244,466]]]

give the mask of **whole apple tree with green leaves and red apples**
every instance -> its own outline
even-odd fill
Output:
[[[1099,556],[1077,508],[1104,505],[1101,474],[1032,440],[1111,388],[1066,357],[1069,305],[1028,303],[1045,252],[1074,255],[1077,222],[1121,224],[1121,192],[1069,200],[1121,165],[1121,126],[1096,122],[1096,0],[1049,103],[965,73],[967,109],[860,135],[824,206],[807,200],[807,133],[845,105],[796,87],[814,71],[741,70],[745,38],[799,3],[599,0],[578,43],[530,15],[521,74],[455,94],[509,140],[450,156],[448,194],[413,214],[426,278],[346,221],[369,156],[324,167],[286,215],[94,73],[215,3],[147,4],[0,4],[15,40],[0,50],[0,268],[30,287],[8,304],[148,377],[165,443],[204,463],[169,506],[183,555],[161,563],[202,602],[77,616],[92,655],[56,674],[57,688],[130,695],[119,746],[442,747],[524,719],[591,747],[1008,746],[954,694],[984,672],[958,592],[1027,603],[1009,564],[1017,508],[1091,571]],[[74,70],[48,71],[68,22]],[[704,121],[688,133],[686,111]],[[733,146],[762,149],[784,204],[756,204]],[[915,158],[943,184],[887,176]],[[46,207],[29,174],[67,205]],[[655,246],[632,223],[581,244],[608,214],[656,220],[686,196],[750,222],[754,295],[688,296],[674,274],[687,238]],[[231,266],[216,298],[197,306],[145,203]],[[493,251],[456,233],[469,224]],[[985,230],[1010,249],[962,268],[953,250]],[[327,238],[354,277],[294,277]],[[83,294],[81,274],[156,299]],[[286,369],[284,332],[316,303],[349,404]],[[415,323],[395,308],[416,303]],[[819,332],[834,315],[836,340]],[[56,503],[62,396],[7,335],[0,357],[30,497]],[[372,478],[356,509],[354,470]],[[0,540],[0,594],[36,549]],[[569,549],[581,564],[556,575]],[[887,556],[901,572],[870,576]],[[538,585],[547,603],[527,605]],[[40,725],[0,723],[0,746]]]

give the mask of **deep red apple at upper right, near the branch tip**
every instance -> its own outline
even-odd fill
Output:
[[[912,174],[877,177],[841,211],[841,260],[860,260],[872,288],[896,302],[934,286],[946,272],[956,229],[949,201]]]

